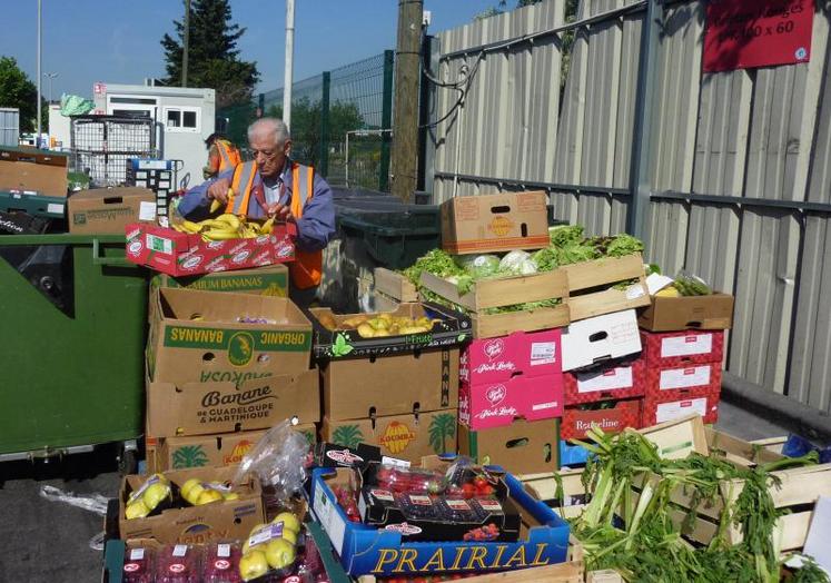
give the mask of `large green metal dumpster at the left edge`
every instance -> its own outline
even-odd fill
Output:
[[[66,246],[71,300],[59,307],[36,287],[40,276],[27,279],[0,259],[0,458],[136,439],[144,433],[147,271],[126,260],[118,235],[0,237],[7,256],[20,246]]]

